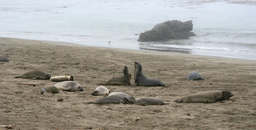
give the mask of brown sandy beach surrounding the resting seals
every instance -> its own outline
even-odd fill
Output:
[[[12,38],[0,38],[0,55],[12,60],[0,62],[0,125],[13,129],[256,129],[256,61]],[[134,86],[134,61],[140,62],[145,76],[170,87]],[[105,87],[170,104],[86,105],[102,97],[90,95],[99,86],[96,84],[122,76],[124,65],[132,72],[131,86]],[[47,97],[39,93],[41,88],[56,82],[13,78],[32,70],[51,76],[72,75],[84,91],[60,91]],[[185,78],[190,71],[198,71],[207,80],[188,82]],[[17,82],[44,85],[14,84]],[[235,96],[224,103],[173,102],[207,90],[229,90]],[[59,98],[64,101],[58,102]],[[140,120],[134,121],[135,117]]]

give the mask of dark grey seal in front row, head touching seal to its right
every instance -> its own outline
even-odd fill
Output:
[[[128,99],[123,98],[119,95],[111,95],[111,96],[106,96],[103,98],[98,99],[95,102],[88,102],[86,104],[127,104],[129,102]]]

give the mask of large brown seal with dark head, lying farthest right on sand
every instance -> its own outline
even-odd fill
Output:
[[[181,99],[177,99],[174,102],[213,103],[213,102],[229,99],[232,96],[234,96],[234,94],[232,94],[230,91],[211,90],[211,91],[204,91],[201,93],[191,94]]]

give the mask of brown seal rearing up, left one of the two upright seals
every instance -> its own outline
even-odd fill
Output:
[[[126,65],[123,68],[123,73],[123,76],[110,79],[107,82],[99,83],[97,85],[131,85],[131,71],[128,69]]]

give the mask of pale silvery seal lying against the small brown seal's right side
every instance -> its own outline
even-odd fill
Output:
[[[54,86],[59,90],[69,91],[69,92],[84,90],[84,88],[81,85],[79,85],[79,83],[74,81],[63,81],[55,84]]]

